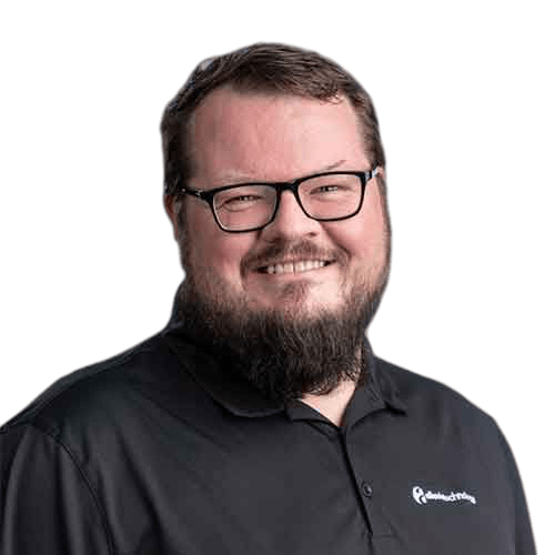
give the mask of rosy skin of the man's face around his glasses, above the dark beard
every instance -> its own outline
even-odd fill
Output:
[[[370,169],[356,114],[346,100],[329,103],[220,89],[196,110],[192,133],[193,189]],[[381,283],[387,232],[375,178],[366,186],[361,212],[337,222],[311,220],[291,192],[283,193],[271,224],[246,233],[222,231],[203,201],[189,196],[185,205],[188,260],[182,263],[188,280],[209,297],[242,299],[251,311],[307,316],[341,311],[357,281],[371,290]],[[314,259],[332,263],[299,273],[287,266],[283,273],[259,271],[278,261]]]

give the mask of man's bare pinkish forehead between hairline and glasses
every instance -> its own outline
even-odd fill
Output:
[[[359,118],[345,98],[212,92],[190,129],[199,181],[290,180],[345,160],[367,165]]]

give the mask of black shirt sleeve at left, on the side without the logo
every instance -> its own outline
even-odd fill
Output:
[[[105,518],[71,453],[19,425],[0,433],[0,555],[108,555]]]

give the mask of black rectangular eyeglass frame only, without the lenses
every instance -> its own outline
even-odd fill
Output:
[[[259,182],[236,183],[234,185],[223,185],[223,186],[219,186],[215,189],[210,189],[208,191],[202,191],[199,189],[191,189],[188,186],[183,186],[183,188],[179,189],[175,194],[176,195],[190,194],[191,196],[196,196],[201,201],[206,202],[212,210],[212,215],[214,216],[215,223],[218,224],[218,226],[222,231],[225,231],[228,233],[248,233],[251,231],[262,230],[266,225],[270,225],[274,221],[275,215],[278,214],[278,211],[280,210],[280,201],[281,201],[281,195],[282,195],[283,191],[291,191],[295,195],[296,202],[301,206],[301,210],[304,212],[304,215],[306,215],[306,218],[310,218],[311,220],[316,220],[319,222],[337,222],[341,220],[347,220],[349,218],[354,218],[362,209],[362,204],[364,202],[364,193],[366,192],[366,185],[371,179],[375,178],[376,172],[377,172],[377,164],[374,164],[372,167],[371,171],[363,171],[363,172],[334,171],[334,172],[315,173],[314,175],[307,175],[306,178],[300,178],[300,179],[295,179],[293,181],[281,182],[281,183],[259,183]],[[313,178],[321,178],[324,175],[356,175],[361,180],[361,186],[362,186],[361,201],[359,203],[359,208],[352,214],[344,215],[341,218],[314,218],[314,216],[310,215],[306,212],[306,210],[304,210],[303,203],[301,202],[301,198],[299,196],[299,186],[304,181],[309,181]],[[266,223],[264,223],[263,225],[259,225],[256,228],[249,228],[246,230],[228,230],[228,229],[225,229],[221,224],[220,220],[218,219],[218,214],[216,214],[215,208],[214,208],[214,195],[221,191],[228,191],[230,189],[236,189],[240,186],[252,186],[252,185],[266,185],[266,186],[271,186],[271,188],[275,189],[276,199],[275,199],[275,208],[274,208],[274,212],[273,212],[272,216],[270,218],[270,220]]]

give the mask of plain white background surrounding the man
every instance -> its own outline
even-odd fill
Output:
[[[380,112],[395,258],[375,349],[500,421],[551,553],[553,11],[300,6],[2,8],[0,421],[165,323],[181,274],[160,111],[201,58],[295,42],[353,71]]]

